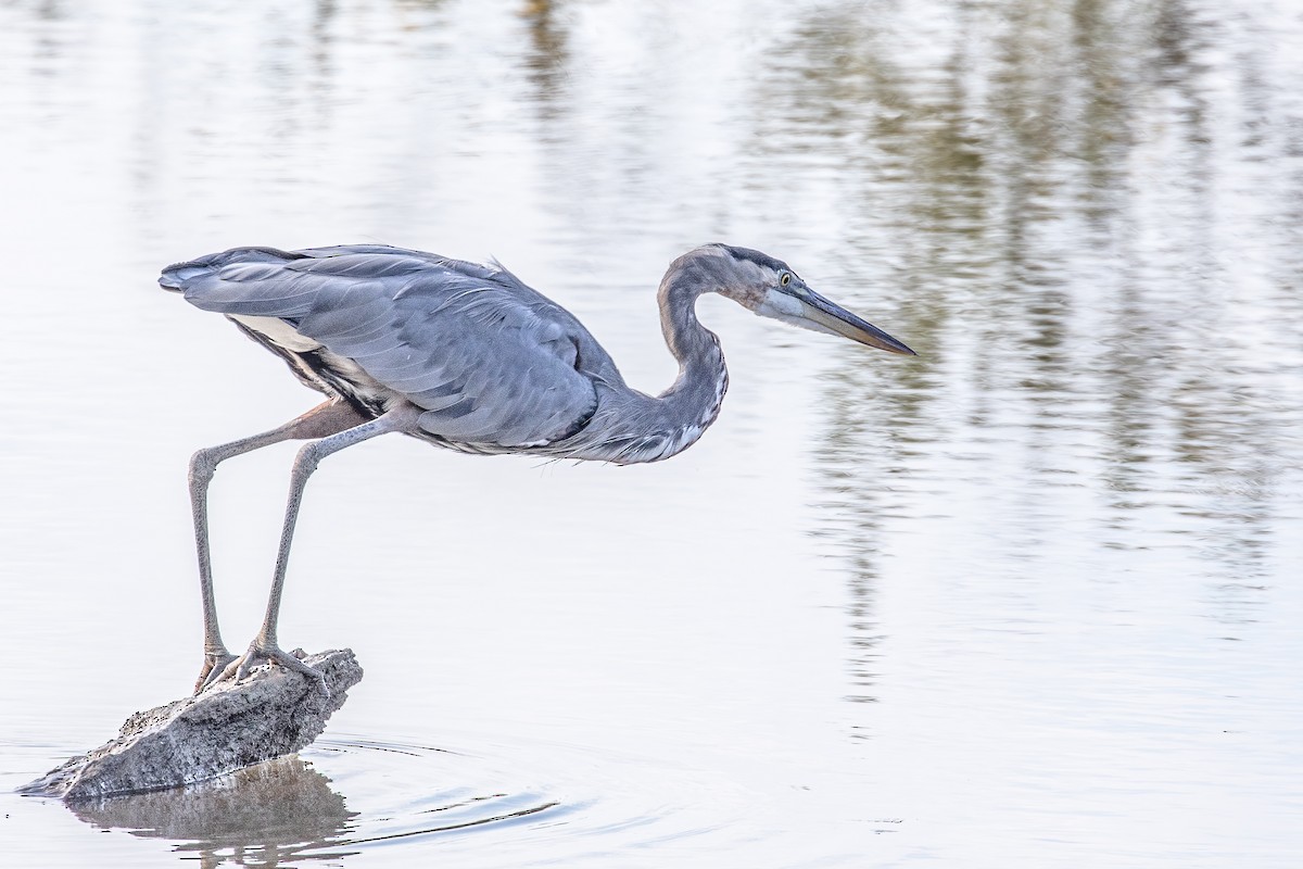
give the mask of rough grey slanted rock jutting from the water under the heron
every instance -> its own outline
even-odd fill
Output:
[[[255,668],[240,683],[219,683],[198,697],[136,713],[116,739],[69,758],[18,788],[64,800],[141,793],[195,784],[306,747],[362,679],[351,649],[308,655],[319,684],[279,666]]]

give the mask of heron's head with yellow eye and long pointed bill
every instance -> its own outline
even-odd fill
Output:
[[[687,254],[709,289],[761,317],[816,332],[840,335],[891,353],[916,356],[903,343],[810,289],[780,259],[748,248],[705,245]]]

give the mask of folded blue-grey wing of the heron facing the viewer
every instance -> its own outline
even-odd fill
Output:
[[[569,436],[597,406],[590,363],[610,357],[504,270],[380,246],[246,250],[173,266],[164,285],[173,275],[205,310],[279,318],[423,408],[431,434],[537,446]]]

